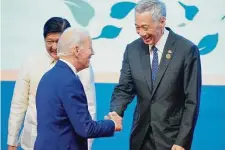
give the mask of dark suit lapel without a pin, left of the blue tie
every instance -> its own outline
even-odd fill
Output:
[[[151,73],[151,65],[150,65],[150,54],[149,54],[149,46],[145,44],[142,40],[141,49],[139,50],[140,62],[142,66],[142,70],[145,76],[145,80],[148,84],[150,93],[152,92],[152,73]]]

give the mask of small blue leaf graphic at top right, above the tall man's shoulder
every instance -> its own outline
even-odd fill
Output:
[[[187,6],[184,3],[179,1],[179,4],[184,8],[185,10],[185,17],[188,20],[193,20],[195,15],[199,12],[198,7],[196,6]]]

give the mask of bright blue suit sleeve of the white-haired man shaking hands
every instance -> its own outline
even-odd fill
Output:
[[[83,86],[78,79],[68,82],[60,95],[68,118],[78,135],[83,138],[114,135],[115,124],[112,120],[92,120]]]

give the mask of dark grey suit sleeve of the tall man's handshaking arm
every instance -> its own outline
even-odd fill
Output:
[[[128,59],[128,47],[129,45],[126,47],[123,56],[119,84],[114,89],[110,104],[110,111],[115,111],[122,117],[127,105],[132,102],[134,96],[136,95]]]

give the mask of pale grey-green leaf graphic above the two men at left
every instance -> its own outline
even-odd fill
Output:
[[[90,20],[94,17],[94,8],[84,0],[65,0],[74,19],[81,26],[88,26]]]

